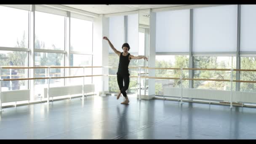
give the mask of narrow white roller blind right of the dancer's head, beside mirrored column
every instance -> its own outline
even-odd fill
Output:
[[[139,51],[139,15],[128,15],[127,22],[127,43],[130,45],[129,53],[138,53]]]

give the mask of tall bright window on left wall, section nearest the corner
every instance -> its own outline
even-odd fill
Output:
[[[93,22],[70,18],[70,66],[92,66]],[[76,53],[76,54],[75,54]],[[70,76],[92,75],[92,68],[72,68]],[[85,84],[92,83],[92,77],[84,77]],[[68,85],[82,85],[83,77],[72,78]]]

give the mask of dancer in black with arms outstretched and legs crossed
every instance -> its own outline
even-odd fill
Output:
[[[119,56],[119,64],[118,64],[118,70],[117,70],[117,83],[119,86],[119,92],[117,94],[117,99],[119,99],[121,93],[125,97],[125,101],[123,101],[121,104],[128,104],[130,101],[128,99],[128,96],[126,94],[126,90],[128,90],[129,83],[130,83],[130,74],[128,71],[128,65],[130,63],[131,59],[147,59],[145,56],[133,56],[128,51],[130,50],[130,46],[128,43],[124,43],[122,45],[123,52],[117,51],[115,47],[112,45],[110,40],[107,37],[103,37],[104,40],[107,40],[112,50]],[[124,84],[123,85],[123,81]]]

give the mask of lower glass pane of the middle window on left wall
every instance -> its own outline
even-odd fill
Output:
[[[38,53],[35,52],[35,67],[63,66],[64,53]],[[64,69],[50,69],[50,77],[63,77]],[[34,77],[48,77],[47,69],[34,69]],[[64,78],[51,79],[50,87],[64,86]],[[34,96],[44,96],[44,88],[48,87],[47,79],[34,80]]]

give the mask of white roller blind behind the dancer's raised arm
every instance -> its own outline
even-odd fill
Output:
[[[124,43],[124,16],[109,17],[109,40],[117,49],[122,52]],[[109,53],[115,53],[109,46]]]

